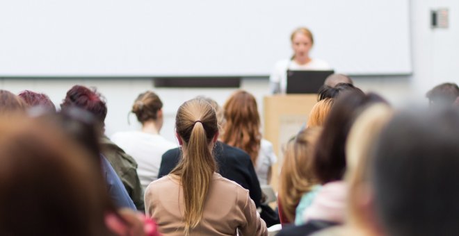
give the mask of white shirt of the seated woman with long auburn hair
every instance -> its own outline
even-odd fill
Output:
[[[258,152],[257,165],[255,172],[257,173],[260,185],[268,185],[268,171],[271,166],[277,161],[277,157],[273,150],[273,144],[268,140],[261,140],[260,150]]]

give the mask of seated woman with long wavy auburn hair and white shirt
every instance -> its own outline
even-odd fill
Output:
[[[234,92],[223,106],[225,131],[222,141],[250,155],[260,185],[271,182],[271,167],[277,158],[273,144],[261,137],[260,117],[255,97],[243,90]]]

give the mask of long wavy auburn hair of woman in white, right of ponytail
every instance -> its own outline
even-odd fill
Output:
[[[226,119],[223,142],[248,153],[255,165],[261,142],[260,117],[255,96],[238,90],[226,101],[223,110]]]

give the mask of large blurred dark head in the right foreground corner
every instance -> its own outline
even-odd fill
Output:
[[[459,233],[459,112],[398,112],[371,151],[369,181],[385,235]]]

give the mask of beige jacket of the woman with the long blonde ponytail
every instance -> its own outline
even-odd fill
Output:
[[[164,236],[184,235],[184,201],[179,181],[164,176],[145,190],[145,212]],[[200,224],[190,235],[268,235],[248,190],[214,173]]]

